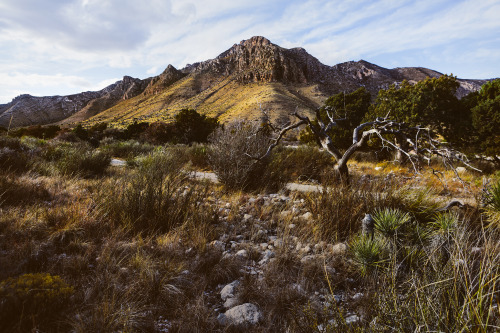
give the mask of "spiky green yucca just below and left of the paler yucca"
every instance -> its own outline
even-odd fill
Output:
[[[362,276],[374,272],[388,261],[386,244],[378,238],[358,236],[349,243],[348,249]]]

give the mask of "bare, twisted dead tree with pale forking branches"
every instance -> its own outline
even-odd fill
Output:
[[[345,118],[334,118],[327,110],[328,122],[325,123],[321,120],[319,113],[320,110],[316,110],[318,124],[315,124],[309,117],[294,112],[292,115],[298,119],[298,122],[277,131],[278,135],[267,151],[261,156],[252,156],[252,158],[256,162],[267,158],[286,132],[306,125],[311,129],[318,145],[335,158],[334,171],[343,183],[349,182],[347,162],[371,138],[378,138],[383,147],[393,149],[400,157],[405,157],[417,173],[424,163],[430,164],[431,158],[435,156],[440,157],[447,168],[455,170],[455,165],[462,163],[474,170],[480,171],[468,163],[467,157],[464,154],[434,138],[430,129],[420,126],[410,127],[404,122],[397,122],[388,117],[378,117],[373,121],[358,125],[353,130],[352,144],[345,151],[341,152],[328,132],[332,128],[339,126],[339,123],[344,121]]]

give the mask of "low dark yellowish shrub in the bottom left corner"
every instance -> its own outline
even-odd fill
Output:
[[[0,328],[29,330],[50,324],[74,293],[60,276],[24,274],[0,282]]]

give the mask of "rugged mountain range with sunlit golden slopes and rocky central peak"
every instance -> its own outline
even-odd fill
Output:
[[[21,95],[0,105],[0,126],[7,127],[11,119],[12,127],[81,121],[120,126],[134,120],[170,121],[182,108],[220,121],[257,118],[263,108],[279,121],[295,109],[309,114],[338,92],[364,86],[376,96],[393,83],[441,75],[421,67],[387,69],[364,60],[327,66],[303,48],[282,48],[257,36],[234,44],[215,59],[180,70],[169,65],[162,74],[144,80],[125,76],[97,92]],[[459,82],[457,95],[462,97],[486,80]]]

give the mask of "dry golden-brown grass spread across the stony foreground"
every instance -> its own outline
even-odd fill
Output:
[[[235,280],[240,301],[263,312],[248,331],[500,327],[498,228],[486,228],[489,212],[475,207],[436,215],[448,198],[423,187],[426,176],[411,182],[394,170],[386,181],[374,170],[369,179],[355,177],[351,187],[266,198],[186,177],[183,147],[138,153],[134,165],[82,177],[56,167],[66,149],[76,150],[73,144],[23,142],[34,163],[0,176],[0,283],[50,274],[73,293],[61,297],[64,306],[54,303],[50,320],[35,306],[29,318],[3,320],[3,331],[236,332],[217,321],[219,292]],[[355,173],[375,167],[356,165]],[[360,220],[385,208],[410,220],[398,225],[397,235],[376,229],[383,262],[375,259],[379,264],[371,269],[366,261],[370,269],[362,275],[363,257],[353,245]],[[305,218],[306,212],[312,216]],[[260,266],[260,245],[271,235],[281,244],[274,243],[274,257]],[[212,243],[221,239],[224,249]],[[312,250],[297,250],[298,242]],[[350,247],[334,252],[338,242]],[[245,249],[248,257],[228,255],[230,244],[231,253]],[[7,304],[13,303],[0,301],[2,314],[11,313]],[[359,320],[349,323],[353,314]]]

